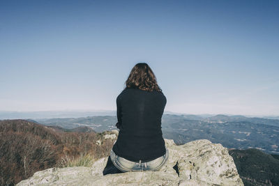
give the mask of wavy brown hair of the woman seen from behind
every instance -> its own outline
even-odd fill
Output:
[[[157,79],[146,63],[137,63],[126,80],[126,88],[139,88],[143,91],[162,92],[157,84]]]

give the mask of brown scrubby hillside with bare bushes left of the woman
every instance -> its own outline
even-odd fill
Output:
[[[74,166],[109,154],[114,141],[103,139],[109,132],[86,127],[72,131],[24,120],[0,121],[0,185],[14,185],[36,171]]]

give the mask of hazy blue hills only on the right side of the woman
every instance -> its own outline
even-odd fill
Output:
[[[209,139],[227,148],[258,148],[266,153],[279,154],[279,127],[275,125],[250,121],[195,121],[183,116],[164,115],[162,129],[164,137],[171,137],[177,144]]]

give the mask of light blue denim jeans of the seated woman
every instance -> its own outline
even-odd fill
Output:
[[[151,160],[150,162],[131,162],[123,157],[119,157],[114,153],[113,150],[110,151],[110,158],[114,166],[123,172],[128,171],[159,171],[163,166],[167,165],[167,160],[169,158],[169,151],[166,149],[165,155]]]

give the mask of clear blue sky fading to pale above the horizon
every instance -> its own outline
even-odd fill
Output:
[[[0,111],[116,110],[148,63],[165,111],[279,116],[279,1],[0,1]]]

